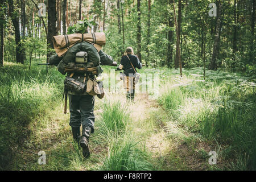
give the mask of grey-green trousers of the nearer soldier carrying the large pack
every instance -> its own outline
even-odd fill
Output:
[[[68,94],[70,122],[72,127],[90,126],[94,133],[94,96]]]

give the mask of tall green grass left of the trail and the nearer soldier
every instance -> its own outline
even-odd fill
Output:
[[[49,103],[60,100],[61,83],[55,71],[7,63],[0,77],[0,168],[8,169],[30,137],[30,123]],[[57,74],[56,74],[57,75]],[[57,79],[56,79],[57,78]]]

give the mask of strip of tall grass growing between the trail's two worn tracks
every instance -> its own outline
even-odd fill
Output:
[[[104,170],[150,170],[147,151],[128,129],[130,114],[127,106],[119,101],[105,101],[102,105],[100,129],[101,138],[108,143],[108,157],[101,169]]]

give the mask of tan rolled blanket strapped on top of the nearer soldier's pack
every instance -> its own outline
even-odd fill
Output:
[[[69,48],[78,42],[89,42],[99,52],[102,46],[106,44],[106,36],[104,32],[96,32],[89,34],[70,34],[70,35],[56,35],[53,36],[53,46],[59,57],[63,56]]]

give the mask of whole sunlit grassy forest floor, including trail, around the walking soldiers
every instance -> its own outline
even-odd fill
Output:
[[[184,69],[183,77],[175,69],[146,68],[141,73],[159,73],[159,97],[151,97],[154,88],[148,93],[138,93],[137,88],[131,104],[122,87],[117,88],[121,92],[106,91],[102,100],[96,97],[91,155],[84,159],[72,139],[69,111],[63,114],[64,77],[55,69],[47,73],[32,66],[29,71],[26,65],[11,63],[2,69],[0,159],[9,161],[2,169],[254,168],[255,80],[207,71],[204,81],[201,68]],[[105,67],[107,75],[110,69]],[[120,82],[118,73],[115,76]],[[46,154],[45,165],[38,164],[39,151]],[[210,151],[218,154],[216,165],[208,162]]]

